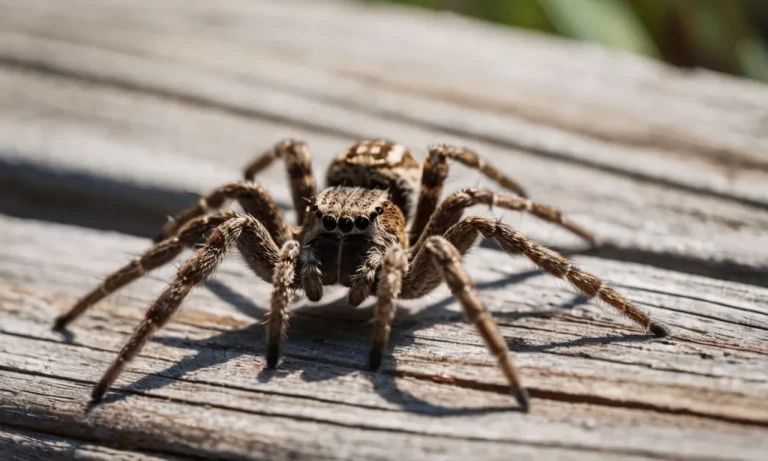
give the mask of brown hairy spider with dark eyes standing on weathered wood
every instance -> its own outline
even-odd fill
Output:
[[[270,194],[253,182],[256,173],[275,159],[285,162],[300,227],[291,227]],[[462,189],[440,202],[452,160],[481,171],[512,193]],[[216,211],[232,199],[240,203],[244,213]],[[510,392],[527,412],[528,393],[507,344],[462,264],[462,256],[482,236],[494,239],[507,253],[524,255],[547,273],[567,280],[584,295],[613,306],[644,330],[660,337],[670,334],[666,326],[653,321],[598,277],[570,264],[508,224],[483,216],[462,218],[464,210],[476,204],[529,212],[595,243],[590,232],[563,217],[557,209],[528,200],[515,181],[468,149],[432,147],[421,167],[400,144],[383,140],[359,142],[331,162],[327,188],[318,193],[307,145],[286,140],[248,165],[244,181],[214,190],[170,219],[149,250],[111,274],[69,312],[58,317],[54,328],[66,328],[110,293],[168,263],[184,248],[193,247],[208,236],[205,245],[181,266],[175,280],[152,304],[96,384],[93,402],[104,397],[126,365],[179,309],[192,289],[213,274],[225,253],[237,247],[250,269],[273,287],[266,321],[267,367],[278,364],[288,306],[297,291],[303,291],[311,301],[318,301],[325,286],[341,284],[349,288],[347,299],[352,306],[375,294],[368,358],[375,370],[381,365],[398,299],[423,297],[445,282],[496,358]]]

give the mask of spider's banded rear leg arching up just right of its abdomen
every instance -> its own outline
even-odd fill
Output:
[[[515,180],[486,163],[471,150],[447,145],[435,146],[429,149],[427,158],[424,161],[416,217],[411,226],[411,245],[419,239],[424,227],[429,222],[429,218],[434,213],[435,208],[437,208],[440,194],[443,191],[443,184],[448,177],[448,166],[451,160],[456,160],[470,168],[480,170],[484,175],[496,181],[505,189],[521,197],[526,197],[525,191]]]

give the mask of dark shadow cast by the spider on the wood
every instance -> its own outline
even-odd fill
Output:
[[[507,287],[541,274],[543,274],[541,270],[523,271],[506,275],[497,280],[478,283],[477,287],[480,290]],[[455,303],[452,296],[430,303],[429,306],[415,312],[409,312],[405,309],[398,311],[395,326],[392,329],[390,345],[386,350],[382,368],[377,372],[370,371],[366,362],[371,333],[370,319],[373,318],[372,307],[350,308],[345,296],[322,304],[301,305],[291,311],[290,340],[286,341],[283,346],[284,359],[276,369],[267,369],[264,367],[263,360],[266,350],[265,327],[261,322],[267,310],[221,282],[209,281],[206,286],[216,296],[233,305],[240,312],[254,318],[256,322],[245,328],[223,331],[213,337],[199,340],[168,336],[153,338],[152,341],[154,342],[176,348],[192,349],[196,353],[156,374],[146,375],[123,387],[120,389],[123,392],[109,394],[100,403],[117,402],[124,400],[133,393],[162,389],[174,381],[189,379],[189,376],[197,371],[222,365],[232,359],[246,355],[259,358],[260,363],[254,366],[254,370],[261,367],[261,371],[255,373],[255,379],[261,383],[269,383],[293,373],[298,373],[305,382],[322,382],[352,373],[361,373],[371,382],[374,392],[380,397],[411,413],[431,416],[457,416],[518,410],[512,403],[510,405],[481,407],[447,407],[431,403],[398,386],[394,350],[413,345],[416,340],[416,333],[420,330],[438,324],[465,321],[463,313],[449,309],[449,306]],[[494,313],[494,318],[509,323],[526,317],[558,315],[587,301],[588,298],[585,296],[574,296],[568,302],[548,311]],[[509,341],[509,346],[512,351],[545,352],[562,347],[647,339],[648,336],[646,335],[594,337],[535,346],[521,344],[512,339]],[[352,357],[351,360],[350,357]]]

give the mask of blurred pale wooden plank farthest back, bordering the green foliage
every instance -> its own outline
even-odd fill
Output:
[[[346,2],[315,2],[311,15],[297,14],[302,2],[232,0],[215,9],[177,0],[151,7],[76,3],[80,8],[50,0],[28,8],[9,3],[5,25],[85,45],[85,62],[28,41],[9,45],[6,50],[23,52],[6,51],[6,60],[125,81],[135,71],[89,58],[106,49],[170,59],[195,73],[226,73],[282,90],[273,101],[281,92],[323,101],[321,113],[284,107],[321,126],[328,126],[328,112],[345,106],[701,193],[763,206],[768,200],[768,92],[755,84],[704,72],[691,77],[636,57],[447,15]],[[163,75],[127,80],[202,95],[199,82]]]

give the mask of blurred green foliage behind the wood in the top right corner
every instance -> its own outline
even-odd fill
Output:
[[[768,82],[768,0],[362,0],[451,10]]]

